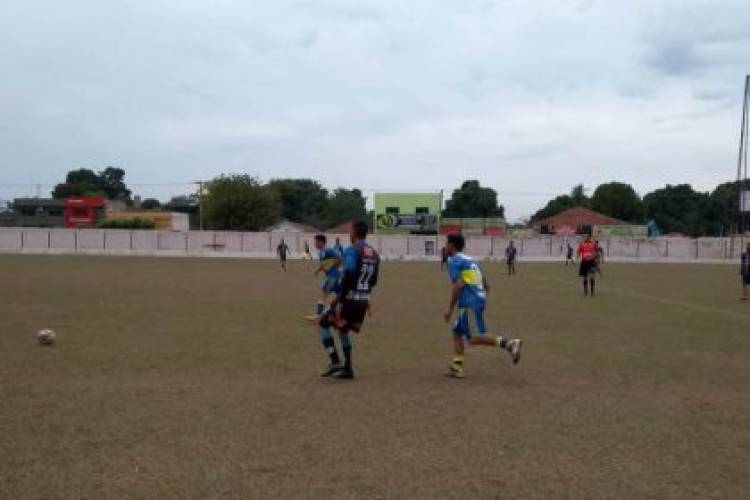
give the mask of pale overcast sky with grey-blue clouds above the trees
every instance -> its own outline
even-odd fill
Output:
[[[511,219],[579,182],[710,189],[746,73],[747,0],[9,0],[0,198],[107,165],[163,199],[477,178]]]

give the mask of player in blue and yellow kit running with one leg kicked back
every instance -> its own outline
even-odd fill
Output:
[[[450,255],[448,274],[453,282],[450,304],[443,314],[446,323],[450,322],[453,310],[458,306],[458,314],[453,323],[453,360],[449,365],[447,374],[455,378],[464,377],[464,346],[466,342],[471,345],[499,347],[508,351],[514,364],[521,359],[521,346],[523,345],[520,339],[510,339],[503,335],[491,337],[486,334],[484,309],[489,287],[479,264],[472,257],[463,253],[464,245],[464,237],[461,234],[448,236],[445,245]],[[479,335],[472,335],[470,316],[474,318]]]

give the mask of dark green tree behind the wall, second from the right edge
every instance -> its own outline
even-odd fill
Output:
[[[708,233],[705,214],[710,206],[707,193],[695,191],[689,184],[667,184],[643,197],[646,216],[665,233],[703,236]]]

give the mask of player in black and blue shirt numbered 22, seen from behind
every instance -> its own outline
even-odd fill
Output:
[[[380,256],[367,244],[367,224],[352,224],[351,246],[344,249],[341,288],[338,297],[328,311],[320,317],[320,342],[323,344],[330,365],[321,374],[323,377],[353,379],[352,340],[350,332],[359,333],[370,309],[370,294],[378,283]],[[341,340],[344,364],[341,365],[331,328],[336,328]]]

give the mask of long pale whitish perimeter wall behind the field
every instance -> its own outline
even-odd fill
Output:
[[[339,237],[348,243],[345,234]],[[283,238],[291,258],[302,257],[313,234],[231,231],[170,232],[116,229],[0,228],[0,253],[81,255],[164,255],[273,258]],[[442,236],[373,235],[370,243],[389,260],[437,260]],[[469,236],[466,252],[479,258],[502,259],[508,238]],[[515,239],[519,260],[557,261],[565,258],[565,239],[536,236]],[[745,240],[745,243],[747,240]],[[642,262],[732,262],[739,259],[739,238],[603,238],[605,260]]]

